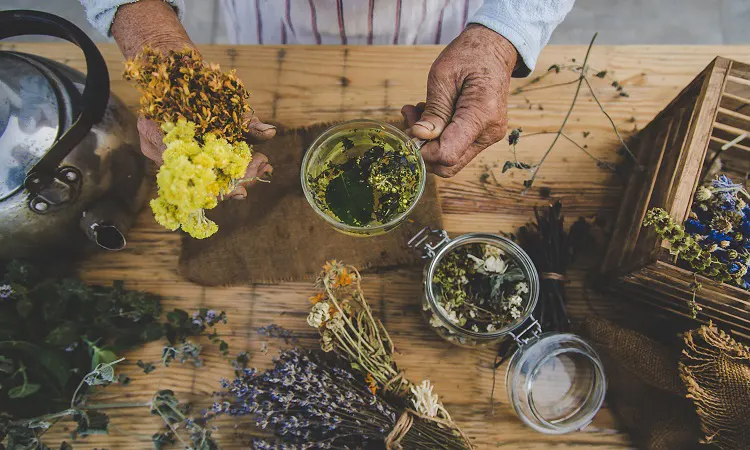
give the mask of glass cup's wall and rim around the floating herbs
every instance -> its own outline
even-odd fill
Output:
[[[405,149],[409,154],[414,155],[419,180],[413,192],[414,196],[403,212],[391,217],[385,223],[373,220],[365,226],[349,225],[339,220],[328,210],[327,205],[321,204],[322,202],[316,199],[311,186],[311,179],[318,176],[331,161],[342,159],[344,151],[348,150],[347,143],[352,145],[352,142],[355,142],[353,151],[356,153],[358,151],[356,142],[365,138],[369,139],[372,136],[382,141],[384,145],[396,149]],[[427,169],[420,152],[423,143],[422,140],[409,138],[403,131],[392,125],[375,120],[358,119],[334,125],[315,139],[302,159],[300,178],[305,198],[320,217],[342,233],[352,236],[376,236],[392,231],[414,211],[419,199],[424,194]],[[372,144],[365,144],[364,146],[367,145]],[[343,159],[346,160],[345,157]]]

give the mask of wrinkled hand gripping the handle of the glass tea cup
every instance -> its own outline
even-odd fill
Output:
[[[412,136],[433,140],[422,147],[430,171],[452,177],[507,129],[513,44],[471,24],[432,64],[427,102],[406,105],[401,114]]]

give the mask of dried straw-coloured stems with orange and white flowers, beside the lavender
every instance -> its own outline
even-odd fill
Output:
[[[399,421],[404,423],[394,425],[396,431],[390,430],[391,435],[395,433],[403,439],[418,417],[425,421],[425,436],[444,436],[440,445],[431,448],[471,448],[438,396],[432,393],[429,381],[415,385],[398,369],[393,342],[383,324],[373,317],[360,283],[361,276],[352,266],[331,261],[323,267],[315,283],[318,293],[310,298],[312,307],[307,317],[307,323],[321,335],[321,349],[346,359],[373,396],[395,399],[397,405],[403,405],[399,413],[407,414]]]

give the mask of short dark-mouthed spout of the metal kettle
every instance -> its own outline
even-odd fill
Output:
[[[112,199],[99,200],[83,212],[81,230],[89,240],[105,250],[122,250],[127,244],[123,235],[127,220],[124,206]]]

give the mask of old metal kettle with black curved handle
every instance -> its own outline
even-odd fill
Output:
[[[87,239],[120,250],[149,194],[136,119],[110,93],[104,58],[80,28],[0,11],[0,39],[32,34],[77,45],[87,74],[0,51],[0,259],[63,256]]]

